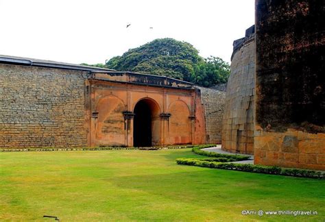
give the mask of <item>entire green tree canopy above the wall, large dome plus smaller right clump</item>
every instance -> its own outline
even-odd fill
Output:
[[[224,83],[230,74],[228,63],[221,58],[202,58],[188,42],[160,38],[130,49],[106,63],[108,69],[165,75],[200,86]]]

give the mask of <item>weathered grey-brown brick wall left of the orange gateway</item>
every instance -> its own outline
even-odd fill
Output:
[[[0,147],[82,147],[86,72],[0,64]]]

